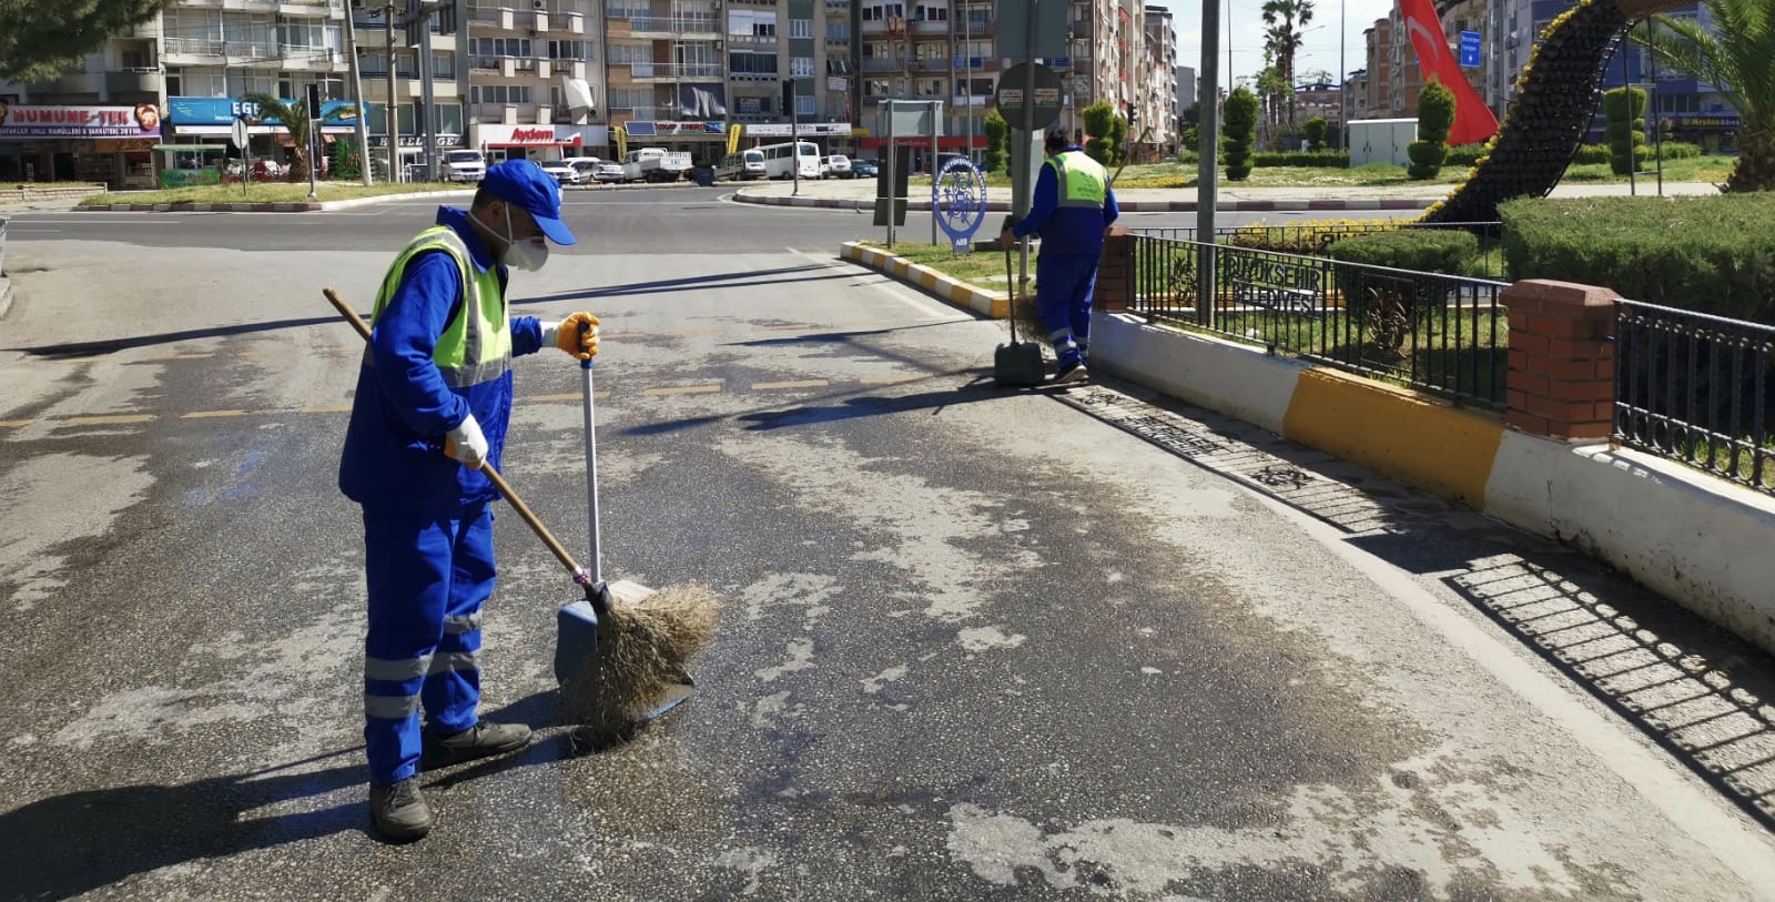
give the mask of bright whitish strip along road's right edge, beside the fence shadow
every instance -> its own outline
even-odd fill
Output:
[[[1337,527],[1289,506],[1285,501],[1255,492],[1253,497],[1287,517],[1296,527],[1314,536],[1321,547],[1329,549],[1331,554],[1374,581],[1388,597],[1402,602],[1420,623],[1441,634],[1452,648],[1484,668],[1550,721],[1558,723],[1574,742],[1633,787],[1649,806],[1663,811],[1670,824],[1688,833],[1695,845],[1713,851],[1722,866],[1743,877],[1750,886],[1775,886],[1775,863],[1771,863],[1768,835],[1752,827],[1745,815],[1731,808],[1731,803],[1716,790],[1676,767],[1667,755],[1647,748],[1644,739],[1629,733],[1624,721],[1590,708],[1578,698],[1574,687],[1548,676],[1519,657],[1519,648],[1448,609],[1411,574],[1351,547],[1349,538]]]

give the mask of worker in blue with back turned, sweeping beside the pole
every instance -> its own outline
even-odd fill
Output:
[[[1031,234],[1042,236],[1035,261],[1035,309],[1054,346],[1054,382],[1086,376],[1085,353],[1092,330],[1092,291],[1104,233],[1120,215],[1109,172],[1060,131],[1042,142],[1047,162],[1035,176],[1030,215],[999,234],[1005,245]]]

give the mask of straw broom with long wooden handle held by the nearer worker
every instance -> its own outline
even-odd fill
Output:
[[[369,341],[364,318],[332,288],[321,293]],[[607,746],[682,701],[683,694],[667,694],[674,685],[690,685],[685,662],[715,641],[721,600],[699,584],[650,591],[630,582],[612,588],[595,579],[492,465],[483,463],[481,472],[586,591],[584,602],[573,602],[563,611],[584,604],[591,616],[563,614],[563,623],[589,620],[588,629],[577,630],[572,641],[559,636],[556,650],[559,721],[584,724],[584,733],[575,735],[575,742]]]

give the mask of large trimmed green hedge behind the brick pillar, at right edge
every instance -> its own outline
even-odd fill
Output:
[[[1498,217],[1512,279],[1775,323],[1775,195],[1518,199]]]

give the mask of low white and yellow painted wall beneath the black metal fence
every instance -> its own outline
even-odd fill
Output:
[[[1125,313],[1092,316],[1092,369],[1558,540],[1775,652],[1775,497]]]

